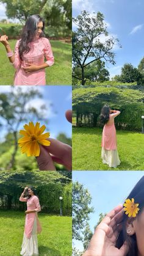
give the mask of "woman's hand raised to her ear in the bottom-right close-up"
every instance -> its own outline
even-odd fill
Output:
[[[120,224],[122,218],[123,206],[118,205],[96,227],[88,249],[83,256],[126,256],[128,254],[126,243],[120,249],[115,247],[118,233],[122,229]]]

